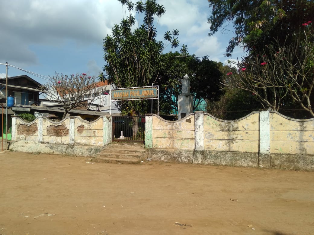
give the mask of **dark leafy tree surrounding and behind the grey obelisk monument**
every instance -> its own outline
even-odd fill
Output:
[[[160,87],[160,105],[165,113],[178,111],[177,97],[181,94],[181,80],[185,74],[190,79],[193,110],[205,100],[217,100],[222,94],[220,82],[223,74],[219,71],[219,63],[209,60],[207,56],[200,59],[189,55],[186,45],[180,52],[162,55],[162,63],[163,69],[156,84]]]

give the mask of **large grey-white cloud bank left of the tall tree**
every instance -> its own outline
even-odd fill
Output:
[[[68,39],[77,45],[101,45],[121,19],[118,7],[121,13],[118,1],[4,1],[0,61],[36,65],[38,58],[31,45],[60,47]]]

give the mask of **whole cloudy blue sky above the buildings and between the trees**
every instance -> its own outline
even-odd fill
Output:
[[[159,39],[166,31],[177,29],[180,46],[175,50],[185,44],[189,54],[208,55],[210,60],[220,62],[230,59],[224,53],[232,32],[208,36],[207,18],[211,12],[207,0],[156,2],[165,7],[165,14],[158,24],[154,23]],[[0,63],[8,62],[44,76],[87,72],[98,76],[105,65],[103,39],[111,35],[112,27],[122,18],[122,5],[118,0],[1,1]],[[169,51],[170,46],[164,53]],[[238,47],[232,59],[242,55],[243,50]],[[5,65],[0,65],[0,77],[5,77],[5,73]],[[8,67],[8,76],[24,74],[42,84],[46,82]]]

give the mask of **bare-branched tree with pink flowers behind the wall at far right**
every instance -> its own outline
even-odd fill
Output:
[[[252,92],[263,107],[276,111],[290,98],[314,117],[314,34],[307,28],[303,32],[294,44],[280,46],[274,39],[264,55],[238,60],[237,72],[227,73],[223,85]]]

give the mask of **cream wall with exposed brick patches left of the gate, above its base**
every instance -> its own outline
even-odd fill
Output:
[[[80,117],[68,117],[60,122],[39,117],[31,123],[13,117],[12,141],[104,146],[111,142],[111,117],[99,117],[92,122]]]

